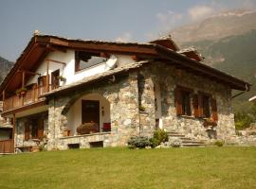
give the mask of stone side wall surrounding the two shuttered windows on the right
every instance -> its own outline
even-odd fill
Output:
[[[164,69],[163,69],[164,68]],[[208,140],[208,132],[203,126],[203,119],[194,116],[177,116],[174,105],[174,89],[176,85],[192,88],[194,93],[198,91],[212,94],[217,100],[218,123],[216,128],[217,138],[227,139],[235,134],[234,118],[230,108],[231,90],[228,86],[210,80],[207,77],[195,76],[185,70],[176,69],[170,64],[155,62],[150,67],[141,69],[141,73],[151,78],[149,86],[154,88],[160,86],[161,110],[163,128],[167,131],[178,131],[188,137]],[[147,86],[145,85],[145,88]],[[147,92],[149,104],[154,105],[154,93]],[[150,110],[154,112],[153,107],[149,105]],[[154,113],[150,114],[150,120],[154,125]]]

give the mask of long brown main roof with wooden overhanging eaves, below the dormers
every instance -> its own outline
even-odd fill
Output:
[[[177,46],[175,48],[178,50]],[[52,35],[35,35],[31,38],[21,56],[10,69],[8,76],[2,81],[0,85],[0,93],[2,94],[7,87],[9,87],[9,90],[17,89],[18,84],[14,78],[17,77],[16,80],[19,80],[20,75],[18,74],[18,71],[23,69],[36,70],[38,66],[37,64],[40,63],[40,60],[43,60],[46,57],[46,54],[52,49],[98,51],[142,56],[143,60],[167,60],[172,61],[172,63],[178,67],[192,70],[192,72],[197,75],[210,77],[219,82],[223,82],[236,90],[246,91],[250,86],[249,83],[242,79],[230,76],[229,74],[214,69],[197,60],[192,60],[187,56],[175,52],[174,49],[159,43],[118,43],[81,39],[73,40]]]

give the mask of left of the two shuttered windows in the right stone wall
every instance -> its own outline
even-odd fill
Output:
[[[191,95],[192,89],[176,87],[174,98],[177,115],[192,115]]]

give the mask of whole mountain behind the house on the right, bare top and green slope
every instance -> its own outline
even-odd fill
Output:
[[[247,112],[256,94],[256,12],[234,10],[171,31],[181,47],[195,46],[214,68],[252,83],[250,92],[233,98],[235,112]],[[183,31],[184,29],[184,31]],[[234,91],[233,94],[239,92]]]

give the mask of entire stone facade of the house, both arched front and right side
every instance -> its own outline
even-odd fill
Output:
[[[188,137],[209,140],[202,118],[177,116],[174,105],[174,89],[177,85],[212,94],[217,101],[217,139],[230,139],[235,134],[234,117],[230,108],[231,89],[209,78],[195,76],[185,70],[163,62],[154,62],[130,70],[115,81],[102,81],[77,90],[74,93],[50,97],[45,127],[47,149],[66,149],[69,144],[89,147],[91,142],[102,141],[103,146],[125,146],[133,135],[152,136],[155,130],[155,89],[160,90],[162,128],[178,131]],[[67,112],[84,94],[101,94],[110,103],[111,131],[81,136],[64,137]],[[16,145],[24,145],[25,120],[18,120]],[[27,144],[28,145],[28,144]],[[29,144],[32,145],[32,144]]]

